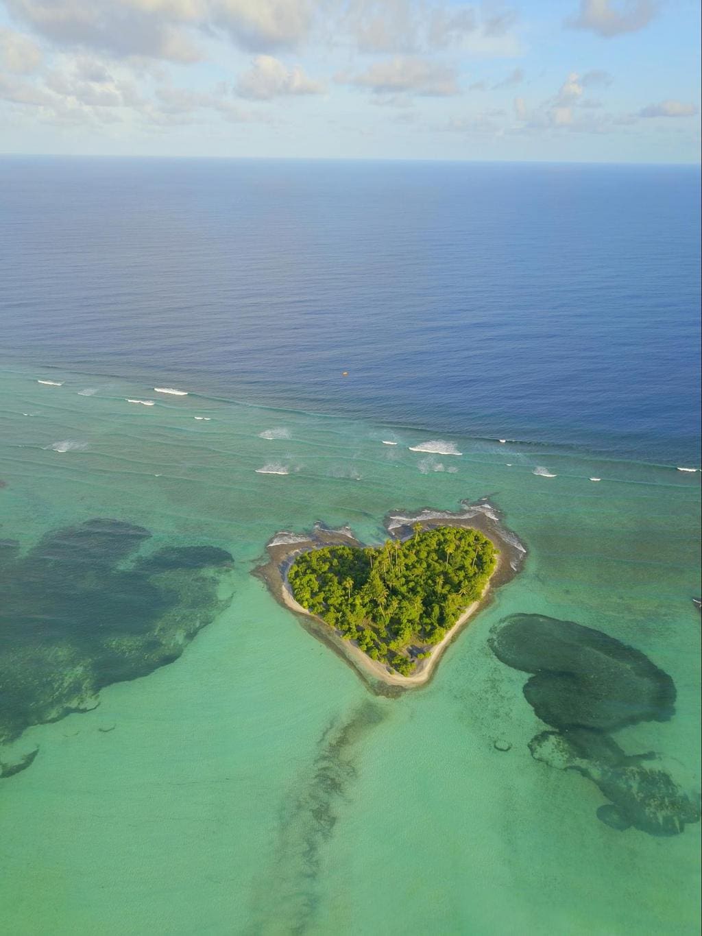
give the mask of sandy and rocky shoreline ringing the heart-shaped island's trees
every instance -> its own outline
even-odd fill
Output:
[[[418,660],[415,671],[408,676],[396,672],[385,662],[373,660],[354,640],[344,638],[339,630],[302,607],[293,596],[287,574],[300,553],[329,546],[363,548],[364,544],[348,527],[331,530],[317,522],[309,534],[287,531],[275,534],[266,547],[268,563],[254,570],[254,575],[266,582],[276,601],[292,611],[305,630],[335,651],[377,695],[399,695],[403,691],[427,685],[446,648],[478,611],[490,603],[495,590],[517,575],[526,557],[526,548],[516,534],[505,527],[499,511],[487,499],[475,503],[462,501],[461,510],[456,512],[431,508],[414,512],[395,511],[386,515],[383,525],[390,538],[403,542],[410,538],[417,524],[422,531],[447,526],[478,530],[497,549],[497,563],[480,598],[465,607],[446,635],[431,647],[431,656]]]

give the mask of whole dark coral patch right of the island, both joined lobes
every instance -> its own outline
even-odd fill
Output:
[[[647,656],[601,631],[538,614],[506,618],[489,642],[503,663],[534,674],[524,695],[557,729],[532,739],[532,756],[595,783],[609,800],[597,810],[603,823],[666,836],[699,821],[699,796],[683,790],[656,754],[626,754],[607,734],[673,715],[673,680]]]

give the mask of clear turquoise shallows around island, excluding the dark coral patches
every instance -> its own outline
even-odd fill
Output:
[[[154,383],[0,372],[3,538],[26,550],[112,518],[235,560],[231,603],[178,660],[25,732],[37,758],[0,782],[3,929],[694,933],[699,824],[654,838],[601,823],[591,782],[532,758],[526,676],[486,638],[535,612],[645,652],[676,714],[617,741],[698,790],[701,475]],[[409,450],[437,439],[461,455]],[[371,695],[250,575],[276,531],[320,519],[373,541],[388,510],[483,496],[526,566],[401,698]]]

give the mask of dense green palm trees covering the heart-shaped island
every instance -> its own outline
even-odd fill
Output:
[[[414,531],[378,547],[303,552],[288,572],[298,604],[404,676],[480,597],[497,557],[478,530]]]

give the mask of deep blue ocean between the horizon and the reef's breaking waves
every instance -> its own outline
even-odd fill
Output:
[[[698,464],[699,195],[691,167],[3,158],[1,355]]]

